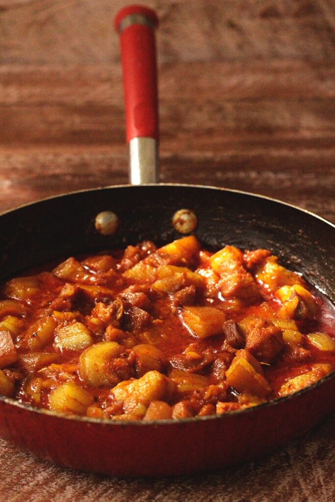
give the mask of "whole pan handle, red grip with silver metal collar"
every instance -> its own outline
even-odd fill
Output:
[[[120,33],[130,178],[135,185],[158,178],[158,99],[156,13],[142,6],[122,9],[115,18]]]

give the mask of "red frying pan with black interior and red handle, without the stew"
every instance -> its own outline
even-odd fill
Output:
[[[132,179],[148,182],[157,173],[156,16],[135,6],[121,11],[116,23],[122,31]],[[132,92],[135,89],[131,96],[129,86]],[[74,192],[3,213],[0,278],[83,252],[142,239],[164,243],[178,238],[171,219],[181,208],[196,214],[193,233],[204,245],[269,248],[284,265],[301,272],[335,302],[334,225],[266,197],[177,184]],[[95,217],[102,211],[118,216],[114,233],[96,230]],[[242,412],[157,422],[63,416],[2,397],[0,435],[44,459],[86,471],[123,476],[190,474],[250,460],[280,447],[330,413],[335,407],[334,395],[333,372],[294,395]]]

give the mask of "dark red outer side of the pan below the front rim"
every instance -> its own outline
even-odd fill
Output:
[[[335,379],[264,406],[161,423],[96,423],[0,401],[1,436],[46,460],[122,476],[180,475],[250,460],[305,433],[334,408]]]

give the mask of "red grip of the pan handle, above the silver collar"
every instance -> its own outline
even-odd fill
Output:
[[[115,20],[119,28],[123,19],[140,14],[154,24],[154,11],[140,6],[123,9]],[[121,59],[124,79],[127,143],[133,138],[158,140],[157,65],[154,29],[143,24],[125,28],[121,35]]]

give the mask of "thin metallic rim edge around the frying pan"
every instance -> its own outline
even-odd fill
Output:
[[[32,202],[28,202],[25,204],[21,204],[20,206],[17,206],[15,208],[11,208],[8,210],[5,210],[0,213],[1,216],[5,216],[6,214],[13,213],[19,209],[23,209],[25,207],[30,207],[38,203],[42,203],[44,201],[48,200],[54,200],[66,196],[71,196],[71,195],[76,195],[76,194],[81,194],[81,193],[86,193],[86,192],[94,192],[94,191],[102,191],[105,189],[113,189],[113,188],[131,188],[131,189],[141,189],[142,187],[177,187],[177,188],[196,188],[196,189],[208,189],[208,190],[219,190],[221,192],[229,192],[229,193],[236,193],[240,195],[246,195],[248,197],[254,197],[258,199],[263,199],[263,200],[268,200],[270,202],[275,202],[280,205],[287,206],[289,208],[295,209],[297,211],[300,211],[302,213],[305,213],[309,216],[312,216],[321,222],[329,225],[333,229],[335,229],[335,224],[333,224],[331,221],[323,218],[322,216],[319,216],[316,213],[313,213],[312,211],[309,211],[308,209],[301,208],[299,206],[296,206],[294,204],[290,204],[288,202],[284,202],[280,199],[276,199],[273,197],[269,197],[266,195],[261,195],[253,192],[246,192],[244,190],[237,190],[237,189],[231,189],[231,188],[225,188],[225,187],[217,187],[214,185],[197,185],[197,184],[187,184],[187,183],[148,183],[148,184],[143,184],[143,185],[130,185],[130,184],[120,184],[120,185],[108,185],[104,187],[95,187],[95,188],[88,188],[88,189],[83,189],[83,190],[73,190],[71,192],[65,192],[57,195],[51,195],[49,197],[44,197]],[[243,410],[236,410],[236,411],[229,411],[225,412],[224,414],[215,414],[215,415],[207,415],[203,417],[190,417],[190,418],[183,418],[183,419],[165,419],[165,420],[148,420],[148,421],[143,421],[143,420],[129,420],[127,422],[123,420],[110,420],[110,419],[96,419],[96,418],[89,418],[89,417],[82,417],[82,416],[76,416],[76,415],[66,415],[60,412],[55,412],[52,410],[46,410],[46,409],[39,409],[35,408],[33,406],[30,406],[28,404],[21,403],[14,398],[8,398],[5,396],[0,396],[0,403],[4,403],[5,405],[10,405],[10,406],[15,406],[17,408],[20,408],[25,411],[41,414],[41,415],[46,415],[50,417],[55,417],[58,419],[64,419],[64,420],[70,420],[70,421],[75,421],[75,422],[81,422],[81,423],[87,423],[87,424],[96,424],[100,425],[103,427],[113,427],[113,426],[122,426],[122,427],[127,427],[127,426],[137,426],[137,427],[152,427],[152,426],[166,426],[166,425],[176,425],[176,424],[187,424],[187,423],[193,423],[193,422],[206,422],[208,420],[225,420],[225,417],[227,419],[232,416],[237,416],[237,415],[245,415],[249,414],[252,412],[257,412],[260,411],[261,409],[272,407],[272,406],[278,406],[280,403],[283,403],[285,401],[291,400],[293,398],[298,398],[299,396],[302,396],[303,394],[312,391],[313,389],[323,385],[326,381],[332,380],[335,377],[335,370],[331,371],[327,375],[323,376],[322,379],[318,380],[317,382],[295,392],[292,394],[289,394],[288,396],[280,397],[273,399],[271,401],[268,401],[266,403],[245,408]]]

